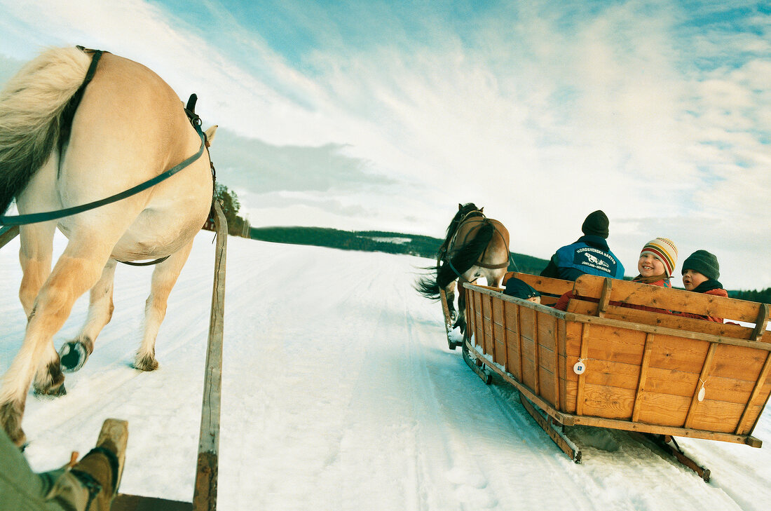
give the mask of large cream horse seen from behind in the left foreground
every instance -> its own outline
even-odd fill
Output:
[[[200,149],[180,99],[154,72],[109,53],[99,60],[72,117],[62,118],[92,57],[52,49],[29,62],[0,93],[0,212],[39,213],[110,197],[177,165]],[[209,138],[214,128],[207,132]],[[62,355],[76,369],[113,314],[116,261],[170,256],[153,271],[144,335],[134,365],[158,367],[155,340],[167,298],[210,209],[207,153],[148,190],[116,203],[21,227],[19,298],[28,322],[22,348],[2,378],[0,423],[17,444],[34,377],[36,392],[61,393],[64,375],[53,336],[72,304],[91,291],[89,314]],[[54,230],[69,239],[52,264]]]

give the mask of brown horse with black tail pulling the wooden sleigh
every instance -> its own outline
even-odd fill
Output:
[[[509,231],[498,220],[484,216],[473,203],[458,204],[458,212],[447,227],[444,243],[436,254],[436,276],[418,280],[416,289],[426,298],[439,299],[443,289],[453,326],[466,330],[466,300],[463,282],[479,277],[497,287],[509,266]],[[458,311],[455,309],[456,281],[459,283]]]

